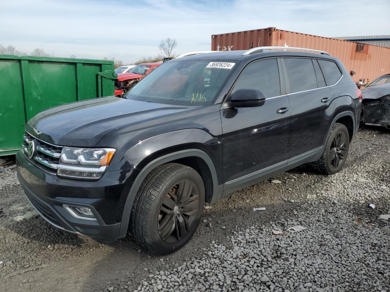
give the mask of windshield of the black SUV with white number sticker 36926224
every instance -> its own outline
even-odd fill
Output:
[[[146,81],[131,88],[125,97],[183,106],[213,104],[234,65],[233,62],[210,61],[164,63],[158,70],[150,73],[145,78]]]

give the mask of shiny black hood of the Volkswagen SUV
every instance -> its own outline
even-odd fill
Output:
[[[102,97],[47,109],[28,121],[26,130],[52,144],[93,147],[115,129],[189,108]]]

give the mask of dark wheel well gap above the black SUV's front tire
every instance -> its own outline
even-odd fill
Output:
[[[176,160],[172,160],[171,162],[189,166],[195,169],[195,171],[197,171],[200,174],[204,183],[205,200],[206,202],[210,203],[211,199],[213,198],[214,190],[213,190],[213,179],[211,176],[211,171],[207,166],[207,163],[202,158],[197,156],[179,158]]]

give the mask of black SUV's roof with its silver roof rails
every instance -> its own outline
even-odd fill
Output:
[[[168,62],[184,61],[184,60],[250,61],[253,59],[273,57],[273,56],[303,56],[303,57],[311,57],[311,58],[326,58],[326,59],[337,60],[336,58],[329,55],[324,55],[319,53],[304,53],[298,51],[267,50],[261,53],[252,53],[250,55],[243,55],[243,53],[245,52],[246,50],[203,53],[203,54],[190,55],[190,56],[185,56],[177,59],[172,59]]]

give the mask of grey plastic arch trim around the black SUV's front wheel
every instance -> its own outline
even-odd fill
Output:
[[[156,153],[156,155],[158,154],[160,153]],[[134,183],[130,188],[129,194],[137,193],[138,189],[142,184],[142,181],[144,181],[149,172],[151,172],[159,165],[168,162],[176,162],[190,166],[199,172],[202,179],[206,179],[206,182],[205,180],[204,182],[207,202],[215,202],[222,195],[222,185],[218,186],[217,172],[213,161],[211,160],[209,155],[207,155],[206,152],[196,148],[187,148],[161,155],[157,158],[152,158],[151,160],[146,160],[143,163],[145,166],[142,167],[142,169],[140,170],[140,173],[138,174],[137,178],[135,179]],[[134,199],[135,195],[128,195],[126,198],[118,238],[126,236]]]

